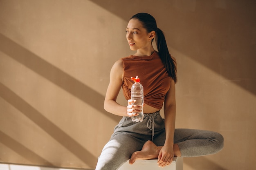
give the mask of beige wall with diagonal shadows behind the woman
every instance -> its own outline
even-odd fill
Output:
[[[88,168],[120,117],[103,110],[129,18],[155,16],[177,59],[177,128],[220,132],[184,170],[252,170],[254,0],[0,0],[0,163]],[[121,93],[120,93],[121,94]],[[121,104],[126,104],[122,96]]]

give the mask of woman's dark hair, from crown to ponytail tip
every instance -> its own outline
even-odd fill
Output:
[[[137,13],[132,16],[130,19],[138,19],[144,28],[150,33],[151,31],[156,32],[156,44],[157,44],[157,50],[158,54],[169,74],[169,76],[174,80],[174,82],[177,82],[177,76],[176,71],[177,68],[174,64],[174,60],[171,57],[171,54],[169,53],[166,40],[164,37],[164,33],[162,30],[157,28],[157,22],[155,21],[155,18],[148,14],[148,13]],[[153,41],[153,40],[152,40]]]

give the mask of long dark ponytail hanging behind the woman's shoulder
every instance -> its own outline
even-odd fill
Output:
[[[176,83],[177,82],[177,75],[176,75],[177,68],[175,65],[175,61],[172,59],[171,54],[168,51],[164,33],[159,28],[157,28],[156,33],[157,33],[156,44],[157,44],[158,54],[164,64],[169,76]]]

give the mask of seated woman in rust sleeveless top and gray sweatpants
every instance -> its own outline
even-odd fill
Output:
[[[126,38],[134,55],[115,62],[110,71],[106,92],[106,111],[123,116],[102,150],[96,170],[116,170],[125,161],[158,159],[160,167],[168,166],[173,157],[196,157],[214,154],[223,147],[222,135],[205,130],[175,129],[176,60],[166,45],[164,34],[157,28],[155,18],[148,13],[132,16],[126,28]],[[152,42],[156,38],[157,51]],[[132,105],[130,77],[139,76],[144,86],[144,106]],[[128,106],[119,105],[117,95],[123,89]],[[159,110],[164,103],[164,117]],[[144,120],[131,120],[138,110]]]

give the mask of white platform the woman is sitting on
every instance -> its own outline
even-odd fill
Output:
[[[118,170],[183,170],[183,158],[174,157],[173,162],[169,166],[159,168],[157,159],[151,160],[137,160],[132,165],[129,161],[124,163]]]

